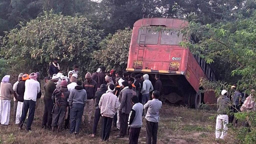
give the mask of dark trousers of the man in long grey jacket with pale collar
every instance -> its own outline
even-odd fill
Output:
[[[124,137],[127,133],[128,128],[128,118],[129,114],[122,114],[121,111],[119,111],[119,122],[120,122],[120,133],[119,135]]]

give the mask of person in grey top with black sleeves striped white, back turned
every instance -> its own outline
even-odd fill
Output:
[[[142,127],[143,105],[139,103],[137,96],[132,96],[131,101],[133,106],[128,118],[129,144],[137,144]]]

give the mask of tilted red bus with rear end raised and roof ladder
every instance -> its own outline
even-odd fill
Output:
[[[162,95],[169,102],[198,108],[201,103],[214,104],[213,91],[201,93],[200,78],[218,79],[216,70],[205,60],[178,45],[183,40],[175,32],[154,31],[146,26],[181,29],[189,23],[176,18],[143,18],[133,26],[126,71],[147,73],[154,86],[154,76],[160,74]],[[191,42],[198,42],[191,36]]]

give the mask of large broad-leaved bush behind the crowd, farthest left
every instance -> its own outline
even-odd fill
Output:
[[[8,63],[23,67],[24,72],[38,70],[43,74],[53,58],[58,58],[63,70],[79,64],[81,72],[89,68],[91,53],[99,49],[102,30],[80,16],[63,16],[44,12],[27,23],[13,29],[1,39],[1,56]],[[18,64],[18,65],[17,65]]]

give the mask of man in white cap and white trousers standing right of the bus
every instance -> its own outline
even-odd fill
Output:
[[[221,91],[221,96],[217,99],[217,118],[216,118],[216,130],[215,136],[216,139],[224,139],[228,130],[228,115],[230,106],[230,99],[227,97],[228,91],[223,89]],[[223,130],[221,129],[223,125]]]

